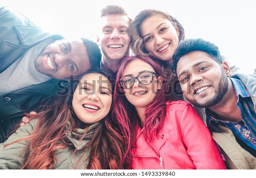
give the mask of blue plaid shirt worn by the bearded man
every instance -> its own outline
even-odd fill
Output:
[[[231,77],[230,79],[236,91],[237,107],[241,111],[244,124],[241,124],[241,122],[222,121],[217,114],[209,109],[206,110],[207,119],[212,127],[215,127],[215,124],[222,124],[228,127],[237,138],[256,151],[256,112],[253,101],[241,80]]]

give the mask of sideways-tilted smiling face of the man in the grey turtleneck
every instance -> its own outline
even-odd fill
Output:
[[[39,72],[54,79],[69,79],[91,68],[86,47],[79,40],[58,40],[47,45],[35,62]]]

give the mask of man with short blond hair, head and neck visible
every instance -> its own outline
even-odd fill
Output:
[[[131,18],[121,6],[108,5],[101,10],[101,33],[97,42],[102,51],[101,65],[116,73],[122,59],[130,54]]]

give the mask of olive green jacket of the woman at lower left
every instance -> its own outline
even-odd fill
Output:
[[[23,164],[29,154],[29,141],[19,141],[5,148],[3,146],[19,138],[24,138],[31,135],[37,122],[38,119],[34,119],[25,126],[18,128],[16,132],[8,138],[7,141],[0,144],[0,169],[16,170],[23,167]],[[67,126],[69,124],[70,123],[67,123]],[[99,123],[97,122],[89,127],[88,132],[84,139],[81,141],[81,143],[75,138],[75,135],[77,134],[78,137],[82,136],[84,133],[83,129],[76,129],[73,132],[68,132],[66,134],[67,138],[73,143],[73,145],[66,145],[66,148],[55,151],[54,154],[58,160],[58,163],[56,164],[55,162],[55,166],[52,169],[76,169],[76,163],[78,162],[80,156],[84,153],[83,147],[88,143],[88,141],[90,141],[90,137],[94,133],[94,129],[95,127],[97,127],[98,124]],[[73,154],[75,150],[74,147],[78,150],[75,154]],[[87,168],[88,161],[86,160],[86,158],[88,157],[88,155],[89,153],[87,151],[81,161],[79,161],[77,169]]]

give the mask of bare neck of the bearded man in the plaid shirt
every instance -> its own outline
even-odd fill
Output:
[[[209,107],[209,109],[215,112],[221,120],[234,122],[241,121],[241,112],[237,107],[236,91],[231,80],[229,80],[227,93],[225,93],[221,101],[218,102],[218,104]]]

